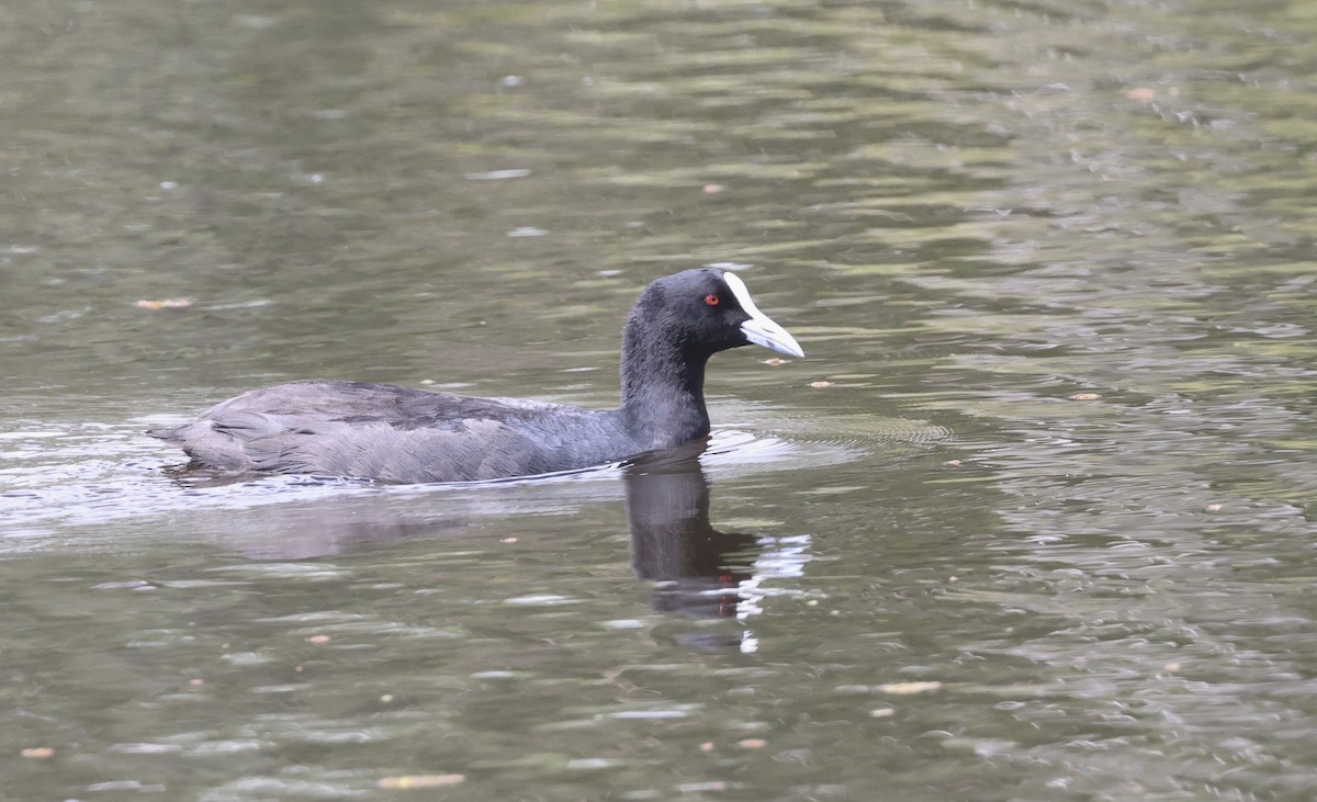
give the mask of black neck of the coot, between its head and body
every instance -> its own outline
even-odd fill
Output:
[[[705,363],[709,354],[645,337],[628,321],[622,341],[622,415],[641,448],[666,449],[709,435]]]

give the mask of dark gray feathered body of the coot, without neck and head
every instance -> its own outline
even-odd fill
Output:
[[[616,462],[648,450],[618,410],[362,382],[252,390],[153,429],[221,470],[469,482]]]

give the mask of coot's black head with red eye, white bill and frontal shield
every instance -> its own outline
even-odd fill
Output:
[[[740,277],[712,269],[686,270],[645,287],[627,321],[627,340],[664,341],[706,358],[752,342],[805,356],[786,329],[759,311]]]

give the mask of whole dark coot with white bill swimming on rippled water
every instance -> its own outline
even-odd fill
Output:
[[[311,381],[252,390],[148,435],[234,471],[468,482],[590,468],[709,435],[705,363],[751,342],[805,356],[736,274],[686,270],[645,287],[627,317],[618,410]]]

